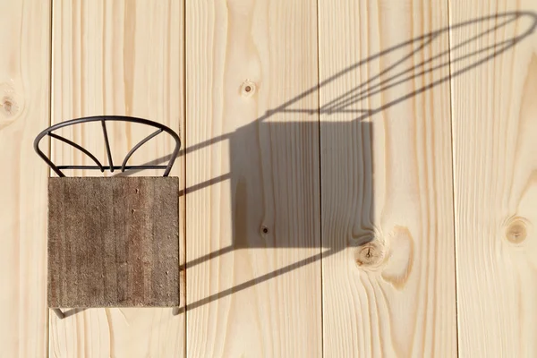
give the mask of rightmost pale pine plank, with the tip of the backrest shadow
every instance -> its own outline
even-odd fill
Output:
[[[452,24],[473,20],[453,31],[451,45],[459,59],[452,64],[459,352],[534,357],[537,3],[455,0],[450,8]],[[463,58],[468,53],[475,55]],[[476,58],[482,64],[463,72]]]

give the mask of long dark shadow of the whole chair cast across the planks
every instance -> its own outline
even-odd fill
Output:
[[[463,31],[465,34],[472,34],[474,26],[478,26],[479,29],[484,28],[484,30],[466,37],[460,43],[451,43],[451,48],[432,46],[435,41],[439,40],[449,44],[447,38],[450,31],[451,33]],[[337,188],[337,193],[331,193],[331,196],[323,195],[320,200],[327,200],[328,196],[329,200],[334,201],[338,197],[345,196],[346,192],[356,192],[355,196],[360,198],[361,202],[356,205],[358,209],[352,215],[357,226],[363,228],[363,232],[359,234],[361,241],[355,244],[369,243],[373,237],[371,223],[374,219],[375,197],[372,116],[506,53],[524,38],[529,37],[536,26],[536,13],[510,12],[465,21],[445,29],[432,31],[389,47],[346,67],[286,103],[269,109],[250,124],[182,149],[179,156],[226,141],[230,156],[229,173],[196,183],[186,188],[181,195],[228,181],[231,190],[230,216],[233,229],[230,244],[220,250],[189,260],[181,266],[181,270],[242,249],[309,248],[318,249],[319,253],[217,294],[211,294],[199,301],[188,303],[186,306],[183,305],[183,307],[176,308],[174,313],[192,310],[226,295],[258,285],[333,255],[348,246],[345,238],[329,242],[322,240],[320,215],[324,204],[308,205],[308,198],[320,195],[320,175],[322,174],[319,166],[322,167],[322,172],[338,173],[337,183],[342,186]],[[495,40],[495,33],[499,32],[498,38],[502,38],[505,37],[506,29],[511,28],[516,29],[511,38],[502,41]],[[490,41],[490,38],[494,40]],[[478,44],[477,49],[475,49],[475,44]],[[469,51],[469,47],[473,50]],[[435,50],[438,53],[433,53]],[[416,58],[422,60],[416,61]],[[326,100],[323,98],[320,107],[304,108],[301,106],[303,99],[312,96],[317,98],[320,89],[333,86],[344,77],[360,78],[357,73],[363,66],[380,64],[380,62],[385,64],[378,66],[381,68],[380,72],[370,76],[366,81],[356,83],[350,90],[337,93],[333,98]],[[456,71],[452,68],[454,64],[458,68]],[[413,90],[408,90],[409,84],[413,85]],[[348,86],[340,86],[340,88],[345,87]],[[390,96],[386,96],[388,99],[380,98],[387,91],[390,93]],[[330,93],[332,92],[334,91]],[[379,105],[371,106],[371,103]],[[311,115],[315,118],[311,121],[281,120],[290,115],[297,115],[299,118]],[[319,120],[319,115],[322,115],[322,121]],[[300,138],[300,146],[297,145],[296,138]],[[337,141],[325,142],[323,138],[337,139]],[[354,143],[354,146],[349,143]],[[271,158],[270,153],[274,152],[277,152],[279,156],[297,160],[296,166],[291,166],[288,160],[280,163]],[[343,157],[345,153],[350,152],[352,156],[349,157],[358,158],[360,162],[359,165],[352,166],[355,170],[353,173],[350,173],[348,168],[337,167],[337,163],[342,162],[341,158],[345,158]],[[144,165],[159,165],[170,158],[168,155]],[[295,167],[298,167],[298,170],[294,170]],[[118,175],[132,175],[136,172],[137,170],[131,170]],[[334,204],[330,207],[334,207]],[[301,211],[302,223],[307,223],[308,227],[296,226],[294,217],[297,210]],[[268,215],[268,211],[286,213],[286,215],[278,215],[276,223],[275,215]],[[187,215],[189,215],[188,212]],[[295,234],[297,232],[299,234]]]

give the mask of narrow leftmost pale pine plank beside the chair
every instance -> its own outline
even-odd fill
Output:
[[[3,0],[0,8],[0,355],[41,357],[47,354],[47,166],[33,141],[50,122],[50,2]]]

